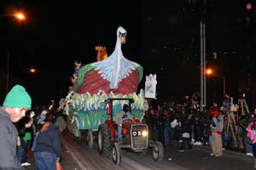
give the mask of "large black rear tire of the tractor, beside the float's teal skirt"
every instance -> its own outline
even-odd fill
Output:
[[[100,156],[110,156],[113,141],[107,123],[102,123],[98,129],[98,151]]]

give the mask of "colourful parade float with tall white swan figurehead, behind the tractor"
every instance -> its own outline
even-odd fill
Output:
[[[116,33],[113,53],[103,60],[81,66],[66,98],[67,127],[76,137],[86,132],[90,147],[98,127],[110,118],[108,99],[119,99],[113,100],[111,105],[113,121],[122,105],[128,103],[125,99],[133,99],[131,114],[139,120],[143,118],[143,110],[148,107],[143,89],[137,89],[143,78],[143,67],[126,59],[122,53],[121,45],[125,43],[127,34],[125,29],[119,26]]]

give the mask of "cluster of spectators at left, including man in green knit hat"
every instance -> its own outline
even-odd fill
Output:
[[[26,89],[15,85],[0,107],[0,169],[18,170],[31,163],[28,150],[34,152],[34,169],[55,170],[61,161],[61,133],[66,128],[61,103],[56,111],[31,110],[32,99]]]

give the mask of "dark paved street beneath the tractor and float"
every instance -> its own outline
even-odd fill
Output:
[[[97,170],[97,169],[143,169],[143,170],[215,170],[253,169],[253,157],[246,156],[237,151],[224,150],[224,156],[210,156],[210,148],[205,146],[194,146],[193,151],[178,152],[177,141],[172,141],[165,148],[164,160],[155,163],[151,152],[136,154],[122,150],[122,161],[120,166],[113,164],[108,157],[99,156],[96,144],[90,149],[84,139],[73,137],[71,133],[63,136],[62,160],[64,169],[70,170]],[[28,153],[28,161],[32,162],[32,152]],[[33,167],[26,167],[32,170]]]

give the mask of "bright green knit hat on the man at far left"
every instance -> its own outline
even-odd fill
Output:
[[[29,94],[27,94],[26,89],[20,85],[15,85],[9,93],[6,95],[3,106],[21,108],[25,107],[31,109],[32,99]]]

